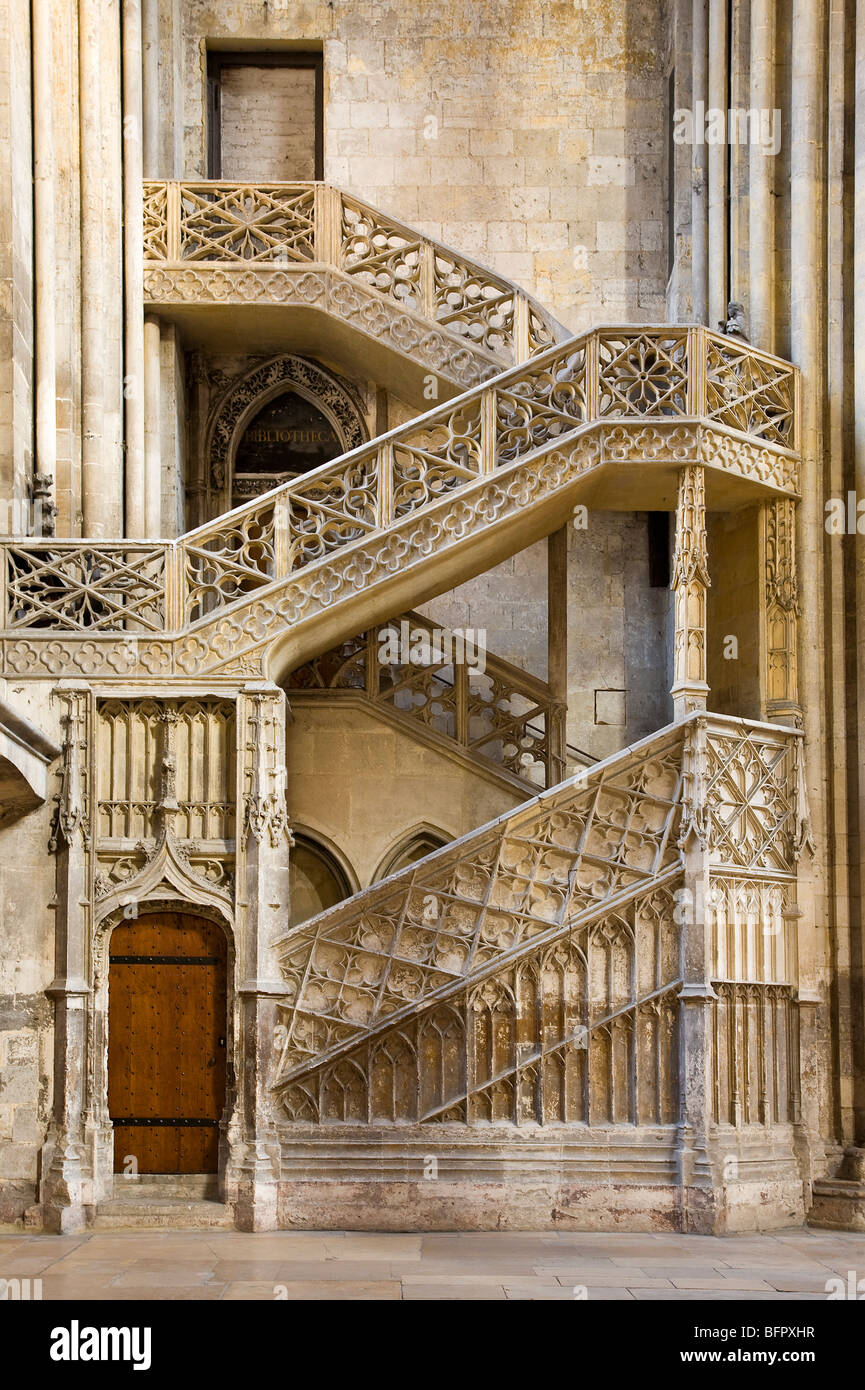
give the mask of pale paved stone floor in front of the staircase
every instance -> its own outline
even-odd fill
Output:
[[[0,1234],[0,1279],[43,1300],[825,1300],[865,1236],[352,1232]]]

